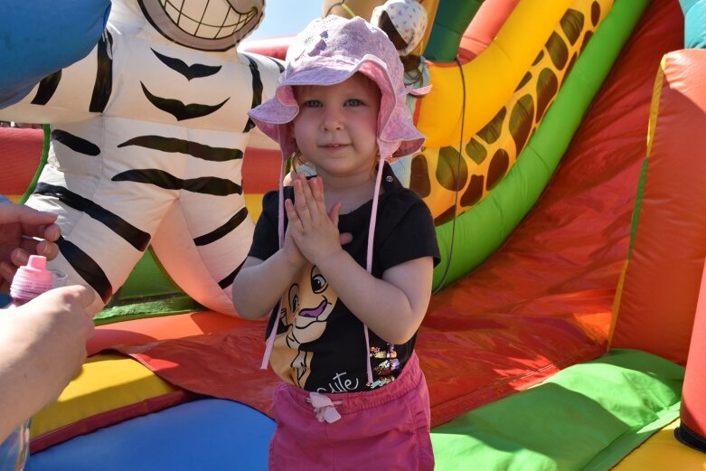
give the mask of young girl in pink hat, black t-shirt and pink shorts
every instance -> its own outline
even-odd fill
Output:
[[[317,174],[265,195],[233,284],[241,316],[277,306],[263,360],[284,381],[270,469],[434,466],[414,343],[436,232],[425,203],[386,163],[424,140],[402,73],[385,33],[329,16],[297,35],[276,97],[250,112],[283,155]]]

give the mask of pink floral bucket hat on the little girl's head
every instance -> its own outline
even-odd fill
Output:
[[[381,157],[392,160],[409,155],[424,143],[405,99],[408,94],[424,95],[429,88],[405,88],[398,52],[381,29],[360,17],[349,20],[330,15],[314,20],[290,44],[286,61],[275,97],[248,113],[262,132],[279,143],[283,155],[298,151],[290,125],[299,112],[292,87],[334,85],[355,72],[381,89],[377,138]]]

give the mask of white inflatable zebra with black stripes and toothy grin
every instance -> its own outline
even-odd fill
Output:
[[[47,165],[27,204],[59,214],[54,267],[98,293],[98,312],[149,244],[202,305],[233,313],[231,282],[253,223],[246,145],[274,148],[247,111],[278,62],[236,50],[264,0],[116,0],[89,55],[44,78],[0,119],[49,123]]]

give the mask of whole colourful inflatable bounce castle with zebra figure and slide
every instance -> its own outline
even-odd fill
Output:
[[[246,111],[288,39],[242,41],[263,1],[39,3],[0,7],[0,119],[43,125],[0,127],[0,193],[60,214],[54,263],[99,301],[27,469],[266,469],[278,380],[229,293],[279,178]],[[703,469],[706,1],[421,5],[437,469]]]

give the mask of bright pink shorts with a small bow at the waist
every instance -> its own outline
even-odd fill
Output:
[[[379,390],[327,397],[341,414],[333,423],[316,419],[308,391],[278,386],[270,471],[434,469],[429,395],[416,354],[397,380]]]

